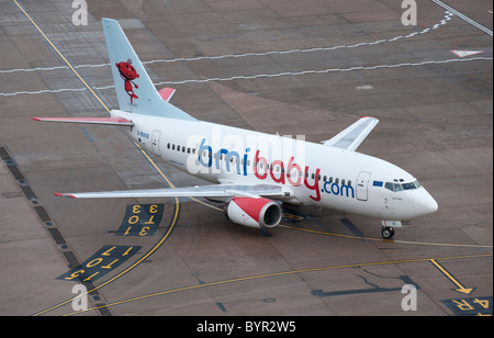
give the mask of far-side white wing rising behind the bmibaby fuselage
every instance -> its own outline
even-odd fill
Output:
[[[366,139],[369,133],[379,123],[378,119],[362,116],[359,121],[347,127],[330,139],[323,140],[325,146],[353,151]]]

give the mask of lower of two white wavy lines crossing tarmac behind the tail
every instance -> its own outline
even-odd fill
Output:
[[[234,81],[234,80],[249,80],[249,79],[261,79],[261,78],[277,78],[277,77],[285,77],[285,76],[305,76],[305,75],[321,75],[321,74],[330,74],[330,72],[345,72],[345,71],[356,71],[356,70],[374,70],[374,69],[386,69],[386,68],[402,68],[402,67],[418,67],[418,66],[427,66],[427,65],[442,65],[450,63],[467,63],[467,61],[481,61],[481,60],[492,60],[492,56],[483,56],[483,57],[472,57],[472,58],[452,58],[445,60],[429,60],[429,61],[419,61],[419,63],[402,63],[395,65],[378,65],[378,66],[360,66],[360,67],[351,67],[351,68],[330,68],[330,69],[319,69],[319,70],[302,70],[302,71],[284,71],[278,74],[257,74],[257,75],[246,75],[246,76],[234,76],[227,78],[211,78],[211,79],[191,79],[191,80],[180,80],[180,81],[162,81],[156,82],[155,86],[161,84],[187,84],[187,83],[205,83],[205,82],[215,82],[215,81]],[[103,86],[103,87],[94,87],[98,90],[105,90],[115,88],[114,84]],[[67,89],[55,89],[55,90],[38,90],[38,91],[19,91],[19,92],[3,92],[0,93],[0,97],[12,97],[20,94],[40,94],[40,93],[53,93],[53,92],[65,92],[65,91],[81,91],[86,90],[86,88],[67,88]]]

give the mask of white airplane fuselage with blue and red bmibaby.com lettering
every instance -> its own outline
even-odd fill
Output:
[[[126,132],[150,154],[214,183],[280,184],[291,192],[284,202],[389,221],[437,210],[412,174],[372,156],[203,121],[112,116],[132,121]]]

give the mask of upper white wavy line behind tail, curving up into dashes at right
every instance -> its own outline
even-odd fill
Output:
[[[452,13],[449,11],[445,11],[445,16],[441,21],[434,24],[430,27],[424,29],[419,32],[413,32],[406,35],[398,35],[391,38],[382,38],[374,42],[363,42],[358,44],[350,44],[350,45],[339,45],[339,46],[332,46],[332,47],[314,47],[314,48],[303,48],[303,49],[290,49],[290,50],[271,50],[271,52],[258,52],[258,53],[244,53],[244,54],[225,54],[225,55],[217,55],[217,56],[198,56],[198,57],[178,57],[173,59],[155,59],[149,61],[143,61],[145,65],[149,64],[157,64],[157,63],[181,63],[181,61],[198,61],[198,60],[214,60],[214,59],[226,59],[226,58],[242,58],[242,57],[250,57],[250,56],[269,56],[269,55],[287,55],[287,54],[293,54],[293,53],[313,53],[313,52],[328,52],[328,50],[336,50],[340,48],[355,48],[355,47],[362,47],[362,46],[372,46],[378,45],[381,43],[386,42],[394,42],[403,38],[413,37],[416,35],[425,34],[430,31],[437,30],[440,26],[448,23],[448,21],[451,20]],[[108,67],[110,64],[98,64],[98,65],[79,65],[75,66],[74,68],[99,68],[99,67]],[[1,70],[0,74],[9,74],[9,72],[18,72],[18,71],[42,71],[42,70],[56,70],[56,69],[68,69],[67,66],[55,66],[55,67],[37,67],[37,68],[18,68],[18,69],[5,69]]]

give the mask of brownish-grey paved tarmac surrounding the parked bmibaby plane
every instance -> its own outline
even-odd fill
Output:
[[[70,1],[0,0],[0,315],[492,315],[492,2],[416,3],[404,25],[395,0],[88,0],[75,25]],[[117,108],[101,18],[199,120],[321,142],[378,117],[358,151],[438,212],[384,240],[328,210],[261,232],[202,199],[54,196],[204,183],[119,127],[30,120]]]

